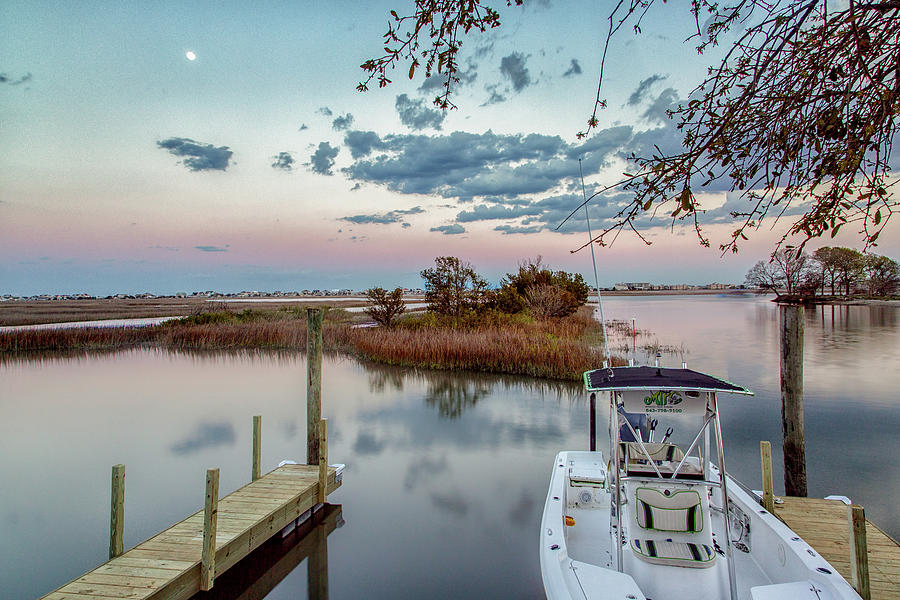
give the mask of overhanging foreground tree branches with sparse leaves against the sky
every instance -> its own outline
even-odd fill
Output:
[[[606,106],[603,65],[610,41],[626,25],[639,34],[643,17],[659,3],[614,3],[593,113],[579,137],[598,127],[598,110]],[[890,189],[896,180],[887,174],[900,124],[900,0],[850,0],[846,8],[826,0],[694,0],[689,10],[698,52],[733,29],[736,41],[689,100],[670,111],[681,151],[632,156],[630,172],[594,194],[624,189],[632,200],[592,242],[602,245],[607,235],[630,227],[649,243],[633,222],[662,212],[673,222],[691,221],[708,246],[695,191],[724,182],[746,204],[731,213],[735,229],[720,245],[723,251],[737,252],[765,217],[791,214],[789,208],[807,202],[778,248],[789,249],[786,240],[796,234],[802,249],[847,223],[860,228],[866,247],[875,244],[898,206]],[[481,0],[416,0],[412,14],[391,15],[385,54],[363,63],[369,76],[357,89],[367,90],[376,77],[380,87],[389,84],[388,70],[403,61],[410,62],[412,78],[421,59],[426,76],[436,71],[445,77],[435,104],[454,108],[449,99],[459,81],[461,34],[499,26],[499,13]]]

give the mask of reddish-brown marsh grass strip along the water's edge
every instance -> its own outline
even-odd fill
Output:
[[[390,365],[568,380],[580,379],[584,371],[600,366],[604,359],[600,327],[589,310],[546,321],[490,313],[451,324],[425,313],[409,315],[392,329],[354,327],[353,323],[351,313],[327,310],[325,348]],[[153,327],[0,334],[0,353],[8,355],[142,345],[189,351],[305,351],[306,310],[216,310]]]

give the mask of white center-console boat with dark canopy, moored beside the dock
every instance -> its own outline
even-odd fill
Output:
[[[547,598],[859,598],[756,494],[722,476],[716,396],[752,392],[687,368],[603,368],[584,381],[608,393],[610,447],[556,457],[540,535]],[[666,433],[654,441],[659,423]]]

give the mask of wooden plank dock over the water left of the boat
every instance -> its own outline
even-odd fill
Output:
[[[328,467],[326,493],[341,485]],[[218,501],[214,577],[319,502],[319,466],[284,465]],[[190,598],[201,589],[204,510],[44,596],[47,600]]]

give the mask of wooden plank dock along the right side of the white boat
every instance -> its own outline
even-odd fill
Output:
[[[779,497],[775,514],[852,581],[849,507],[840,500]],[[866,520],[869,588],[875,600],[900,599],[900,545]]]

